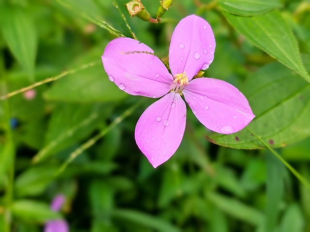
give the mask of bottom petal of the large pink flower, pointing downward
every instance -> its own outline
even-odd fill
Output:
[[[179,147],[186,125],[186,104],[171,92],[150,105],[140,116],[135,139],[142,153],[156,168]]]

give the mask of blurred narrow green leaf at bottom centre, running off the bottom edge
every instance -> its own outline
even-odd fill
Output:
[[[161,232],[180,232],[178,228],[169,224],[159,217],[153,217],[151,215],[141,213],[136,210],[130,209],[115,209],[112,211],[113,217],[121,218],[122,220],[128,220],[137,224],[143,225],[147,228],[155,229]]]

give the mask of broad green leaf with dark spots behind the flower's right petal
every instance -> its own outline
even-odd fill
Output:
[[[305,60],[310,62],[310,58]],[[213,143],[245,149],[265,147],[253,132],[265,143],[279,147],[310,135],[310,84],[293,71],[279,63],[268,64],[254,73],[241,91],[256,117],[242,131],[211,134]]]

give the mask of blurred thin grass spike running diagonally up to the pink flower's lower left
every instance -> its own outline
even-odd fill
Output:
[[[142,100],[143,101],[143,100]],[[114,121],[105,129],[100,131],[97,135],[95,135],[93,138],[79,146],[76,150],[74,150],[70,155],[69,158],[62,164],[60,169],[56,172],[55,176],[58,176],[61,174],[66,167],[78,157],[83,151],[86,149],[90,148],[92,145],[94,145],[99,139],[101,139],[103,136],[105,136],[109,131],[111,131],[114,127],[116,127],[118,124],[120,124],[127,116],[131,115],[132,112],[141,104],[141,102],[137,102],[130,108],[124,111],[124,113],[121,116],[118,116],[117,118],[114,119]]]

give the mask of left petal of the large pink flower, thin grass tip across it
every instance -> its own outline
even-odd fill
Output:
[[[171,90],[173,77],[144,43],[131,38],[112,40],[102,55],[110,81],[131,95],[159,98]]]

